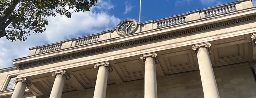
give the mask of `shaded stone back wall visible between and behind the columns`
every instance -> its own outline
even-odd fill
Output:
[[[249,63],[214,68],[220,98],[255,98]],[[94,88],[63,93],[62,98],[93,98]],[[204,98],[199,71],[157,78],[158,98]],[[144,80],[107,86],[106,98],[144,98]]]

